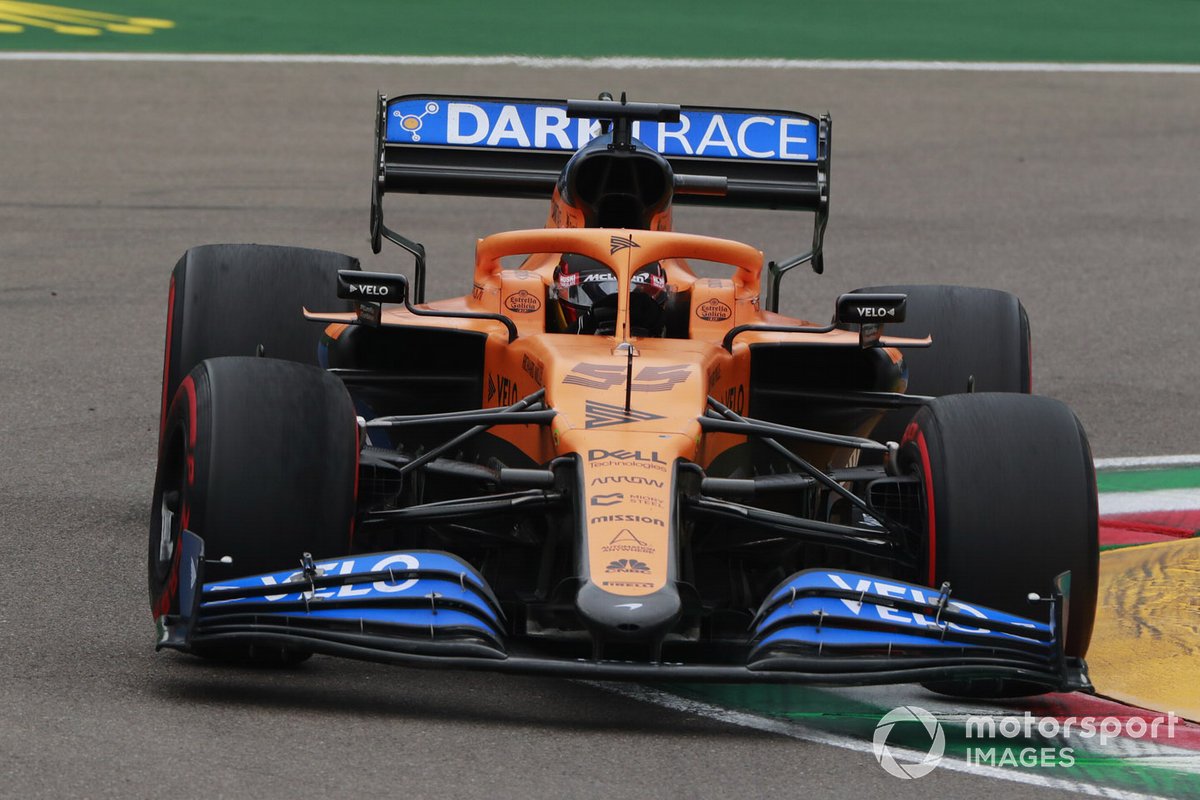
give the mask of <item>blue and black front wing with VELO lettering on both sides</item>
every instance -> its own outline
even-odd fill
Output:
[[[173,607],[158,648],[260,644],[412,667],[642,681],[823,685],[1018,680],[1091,687],[1062,651],[1069,581],[1042,622],[898,581],[805,570],[766,600],[742,657],[630,662],[547,655],[509,630],[486,581],[436,551],[343,557],[301,569],[204,582],[204,542],[180,537]],[[1066,576],[1064,576],[1066,577]]]

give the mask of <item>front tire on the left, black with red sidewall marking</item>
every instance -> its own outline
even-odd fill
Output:
[[[337,378],[276,359],[205,360],[181,381],[164,429],[149,541],[156,619],[170,612],[185,528],[204,540],[205,581],[286,570],[306,552],[349,552],[359,438]],[[196,651],[260,664],[307,657],[258,645]]]

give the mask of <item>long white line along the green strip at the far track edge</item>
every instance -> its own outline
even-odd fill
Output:
[[[1103,72],[1200,74],[1200,64],[1061,64],[1055,61],[872,61],[845,59],[599,59],[529,55],[325,55],[277,53],[0,52],[0,61],[152,61],[194,64],[378,64],[392,66],[517,66],[535,70],[852,70],[914,72]]]

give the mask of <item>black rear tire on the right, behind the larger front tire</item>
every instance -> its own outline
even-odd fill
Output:
[[[1015,295],[952,285],[854,290],[864,291],[908,295],[905,321],[888,323],[884,335],[934,338],[928,348],[904,349],[908,395],[1032,391],[1030,317]],[[871,435],[880,441],[899,441],[912,416],[912,409],[890,411]]]

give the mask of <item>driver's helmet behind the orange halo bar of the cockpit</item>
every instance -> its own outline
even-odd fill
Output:
[[[568,253],[554,267],[554,295],[566,333],[617,332],[617,275],[607,265]],[[666,271],[658,261],[640,267],[630,281],[629,314],[634,336],[662,336],[667,302]]]

